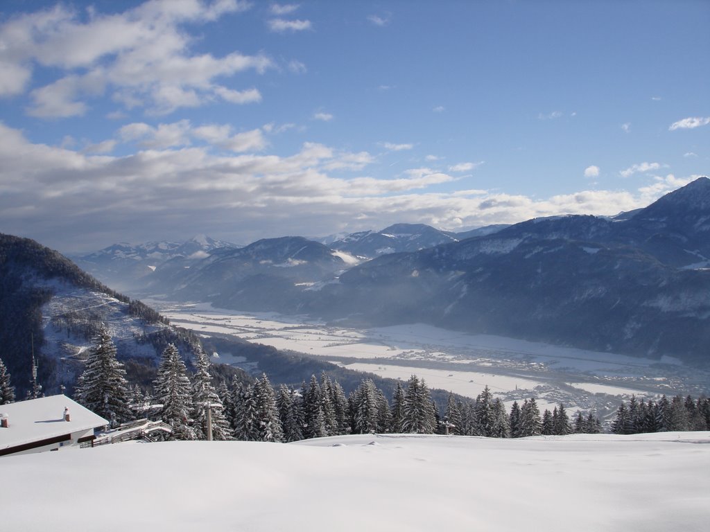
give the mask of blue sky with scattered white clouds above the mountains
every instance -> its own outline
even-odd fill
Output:
[[[709,174],[710,2],[0,3],[0,233],[613,215]]]

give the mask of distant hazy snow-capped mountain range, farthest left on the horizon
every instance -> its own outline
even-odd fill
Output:
[[[238,245],[197,235],[185,242],[118,243],[94,253],[70,258],[97,279],[116,289],[133,291],[142,287],[160,265],[172,262],[174,269],[189,267],[218,249],[235,249]]]

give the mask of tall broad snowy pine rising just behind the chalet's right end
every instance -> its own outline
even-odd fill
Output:
[[[126,370],[116,360],[116,345],[106,329],[99,332],[95,347],[89,351],[74,397],[77,403],[107,419],[112,427],[133,419]]]

